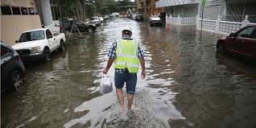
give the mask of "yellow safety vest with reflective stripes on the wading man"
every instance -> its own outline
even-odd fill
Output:
[[[138,42],[134,39],[121,39],[117,41],[117,58],[114,61],[114,68],[128,68],[130,73],[137,73],[139,68]]]

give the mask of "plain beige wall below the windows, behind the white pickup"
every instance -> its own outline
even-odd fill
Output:
[[[0,15],[1,41],[13,46],[23,31],[41,28],[39,15]]]

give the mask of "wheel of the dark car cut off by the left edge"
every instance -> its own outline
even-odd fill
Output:
[[[23,73],[19,70],[14,70],[10,77],[11,85],[14,90],[18,90],[24,83],[23,81]]]

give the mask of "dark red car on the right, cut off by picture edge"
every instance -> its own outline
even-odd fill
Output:
[[[219,39],[217,52],[229,52],[256,60],[256,26],[243,27]]]

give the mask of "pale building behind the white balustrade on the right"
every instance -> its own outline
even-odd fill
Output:
[[[194,17],[202,15],[201,0],[160,0],[155,2],[156,7],[163,7],[167,14],[173,17]],[[246,15],[251,23],[256,23],[255,0],[206,0],[204,19],[217,19],[242,22]]]

